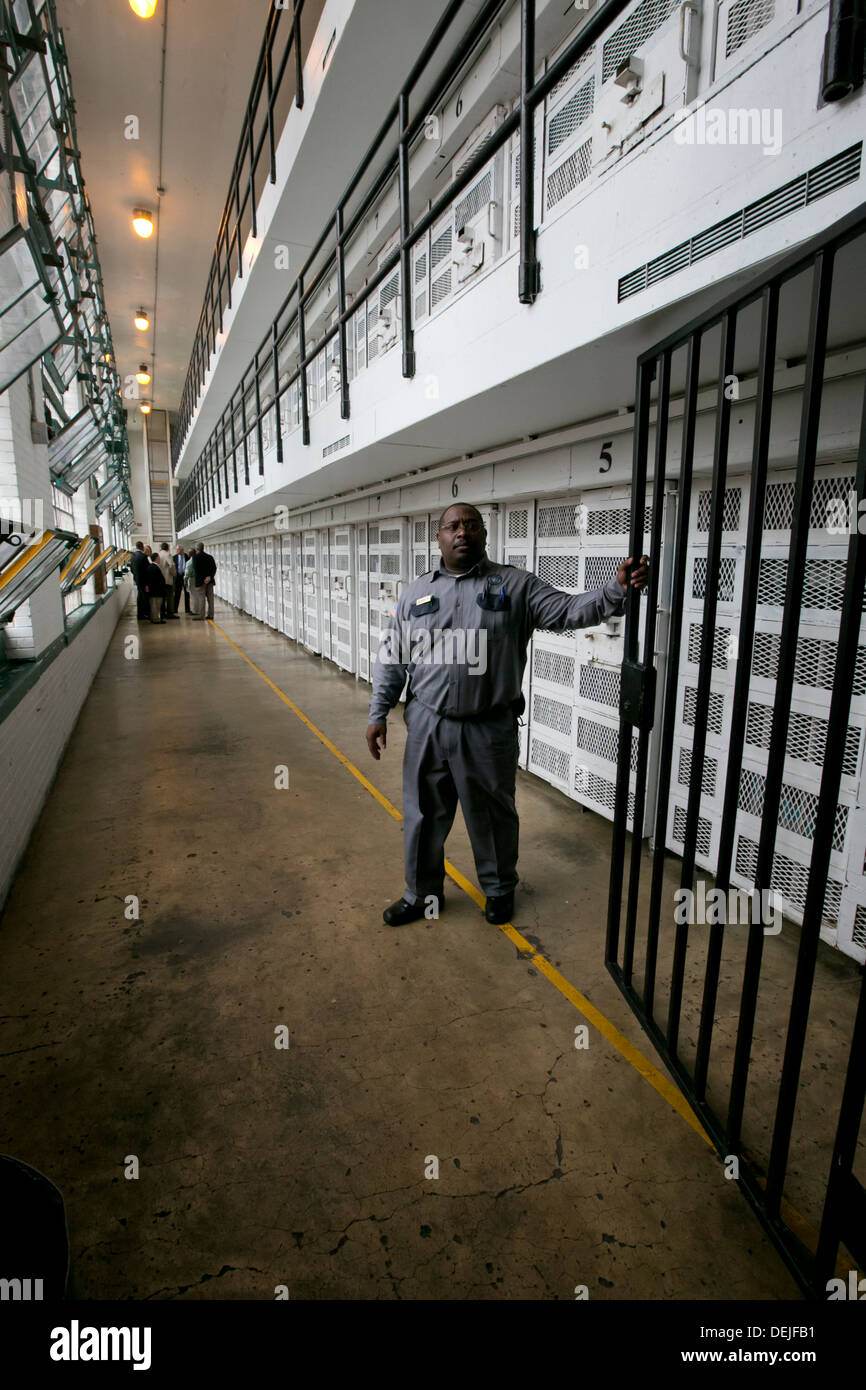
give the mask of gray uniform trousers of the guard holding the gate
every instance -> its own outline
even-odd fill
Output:
[[[517,883],[514,781],[520,735],[510,709],[488,719],[448,719],[410,699],[403,755],[406,894],[418,902],[442,892],[445,840],[457,801],[488,898]]]

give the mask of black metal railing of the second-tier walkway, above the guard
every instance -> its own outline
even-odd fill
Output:
[[[446,211],[460,193],[468,188],[478,172],[489,160],[506,146],[513,135],[520,133],[520,260],[517,277],[517,295],[521,303],[531,304],[539,293],[539,267],[537,256],[537,231],[534,217],[535,203],[535,152],[532,139],[532,122],[537,108],[545,101],[553,88],[580,63],[580,60],[603,35],[613,21],[628,7],[631,0],[606,0],[603,6],[587,19],[580,32],[555,58],[545,74],[534,81],[535,72],[535,0],[520,0],[520,49],[521,49],[521,79],[520,95],[514,110],[505,117],[498,128],[450,181],[430,207],[417,218],[410,215],[410,186],[409,186],[409,152],[413,142],[421,135],[428,113],[435,110],[450,89],[455,78],[464,68],[470,57],[480,44],[502,10],[509,6],[509,0],[488,0],[488,3],[470,21],[466,32],[453,44],[448,57],[442,61],[435,75],[430,76],[428,68],[443,44],[448,31],[455,24],[463,10],[463,0],[452,0],[431,38],[421,50],[406,81],[392,103],[379,131],[370,149],[364,154],[354,174],[349,179],[327,227],[322,229],[313,250],[307,256],[299,274],[296,275],[288,295],[285,296],[274,321],[264,336],[261,346],[256,352],[253,361],[243,373],[239,385],[221,413],[220,421],[211,431],[190,475],[178,489],[177,521],[178,528],[192,525],[210,507],[215,506],[229,492],[238,492],[238,452],[242,455],[240,467],[245,482],[250,475],[249,435],[256,436],[256,456],[259,474],[264,474],[264,448],[261,425],[265,413],[274,411],[277,459],[282,461],[282,430],[279,402],[297,385],[299,391],[299,423],[302,441],[310,443],[310,421],[307,404],[307,373],[322,349],[331,342],[336,342],[336,357],[339,364],[341,384],[341,417],[349,418],[349,366],[346,328],[349,320],[357,314],[359,307],[366,304],[389,275],[399,267],[400,271],[400,321],[403,335],[403,377],[416,374],[416,353],[413,338],[413,284],[410,274],[410,260],[413,247],[435,225],[442,213]],[[424,92],[424,100],[418,104],[414,115],[410,114],[410,101],[421,78],[430,76],[430,85]],[[389,136],[392,139],[389,140]],[[382,158],[382,147],[386,153]],[[377,163],[378,160],[378,163]],[[370,181],[361,183],[370,175]],[[399,189],[399,232],[392,250],[381,260],[375,274],[359,289],[353,303],[348,304],[346,297],[346,246],[364,218],[368,215],[382,190],[396,178]],[[353,203],[353,199],[356,200]],[[352,210],[349,210],[352,208]],[[321,289],[328,278],[336,275],[336,314],[331,327],[318,338],[316,345],[307,349],[306,342],[306,314],[313,296]],[[297,341],[297,363],[293,371],[281,373],[279,356],[289,339]],[[200,379],[203,381],[206,361],[200,363]],[[264,389],[263,389],[264,388]],[[267,402],[263,407],[263,396],[267,392]],[[252,410],[247,409],[247,402]],[[177,457],[183,448],[183,441],[189,432],[192,406],[182,413],[175,432]],[[242,441],[236,438],[235,420],[239,420]],[[231,441],[231,443],[229,443]],[[231,461],[229,461],[231,457]],[[231,478],[229,478],[231,468]]]

